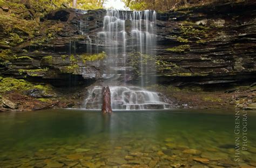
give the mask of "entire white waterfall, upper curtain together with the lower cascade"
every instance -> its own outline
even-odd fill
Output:
[[[100,44],[104,46],[103,50],[107,54],[104,64],[107,65],[109,73],[121,74],[121,76],[123,75],[123,81],[125,81],[125,75],[129,73],[127,68],[130,67],[127,64],[127,59],[133,59],[129,58],[131,56],[128,53],[132,51],[140,53],[140,61],[137,66],[140,69],[141,87],[129,87],[126,86],[125,82],[123,86],[113,86],[115,81],[112,79],[110,83],[112,85],[110,86],[112,109],[170,108],[170,102],[163,94],[144,89],[145,83],[149,80],[147,78],[148,71],[155,72],[155,62],[149,61],[149,58],[154,58],[154,55],[156,55],[156,38],[155,11],[106,10],[102,31],[97,32],[95,41],[97,47]],[[90,37],[88,39],[87,44],[89,42],[90,46]],[[91,51],[91,49],[87,48],[87,51]],[[145,54],[147,55],[146,57]],[[84,108],[101,109],[103,101],[102,87],[95,86],[90,88],[87,95],[84,101]]]

